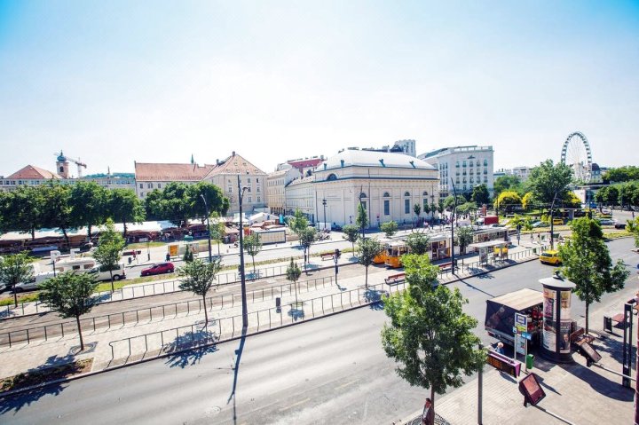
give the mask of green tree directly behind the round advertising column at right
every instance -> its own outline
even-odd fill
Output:
[[[574,293],[586,303],[588,334],[590,304],[599,303],[605,293],[623,288],[630,272],[622,260],[612,265],[601,226],[588,217],[572,221],[572,237],[559,248],[559,257],[565,276],[576,285]]]

